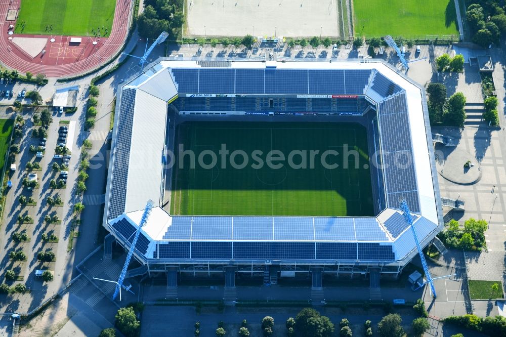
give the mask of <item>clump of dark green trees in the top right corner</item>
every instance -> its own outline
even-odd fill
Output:
[[[498,43],[506,31],[506,15],[498,0],[472,0],[466,19],[473,42],[483,48]]]

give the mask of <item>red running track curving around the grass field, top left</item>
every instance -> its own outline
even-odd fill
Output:
[[[117,53],[128,35],[133,0],[117,0],[109,37],[80,36],[82,42],[79,46],[69,45],[70,36],[53,36],[55,42],[51,43],[51,35],[9,35],[9,25],[16,26],[16,21],[7,21],[7,13],[9,9],[19,9],[20,4],[21,0],[13,0],[12,3],[0,0],[0,62],[22,73],[29,71],[48,77],[65,77],[93,70]],[[46,53],[32,58],[12,43],[9,36],[47,38]],[[94,40],[97,40],[97,45],[93,45]]]

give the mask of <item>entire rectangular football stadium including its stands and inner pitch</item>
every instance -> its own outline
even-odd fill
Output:
[[[116,116],[106,243],[141,225],[142,273],[397,277],[399,203],[422,247],[442,229],[425,90],[381,60],[161,58]]]

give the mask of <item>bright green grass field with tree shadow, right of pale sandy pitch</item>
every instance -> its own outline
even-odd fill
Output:
[[[453,0],[354,0],[356,36],[455,34],[458,24]],[[368,21],[365,21],[368,20]]]

